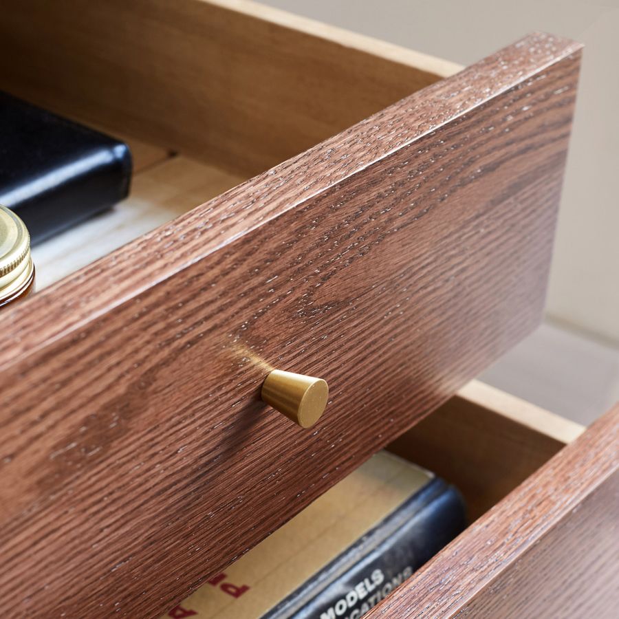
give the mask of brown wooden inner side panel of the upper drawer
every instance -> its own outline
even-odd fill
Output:
[[[458,68],[239,0],[7,0],[0,20],[3,89],[247,175]]]

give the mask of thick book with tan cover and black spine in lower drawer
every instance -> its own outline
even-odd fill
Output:
[[[453,486],[381,452],[167,616],[358,619],[465,526]]]

